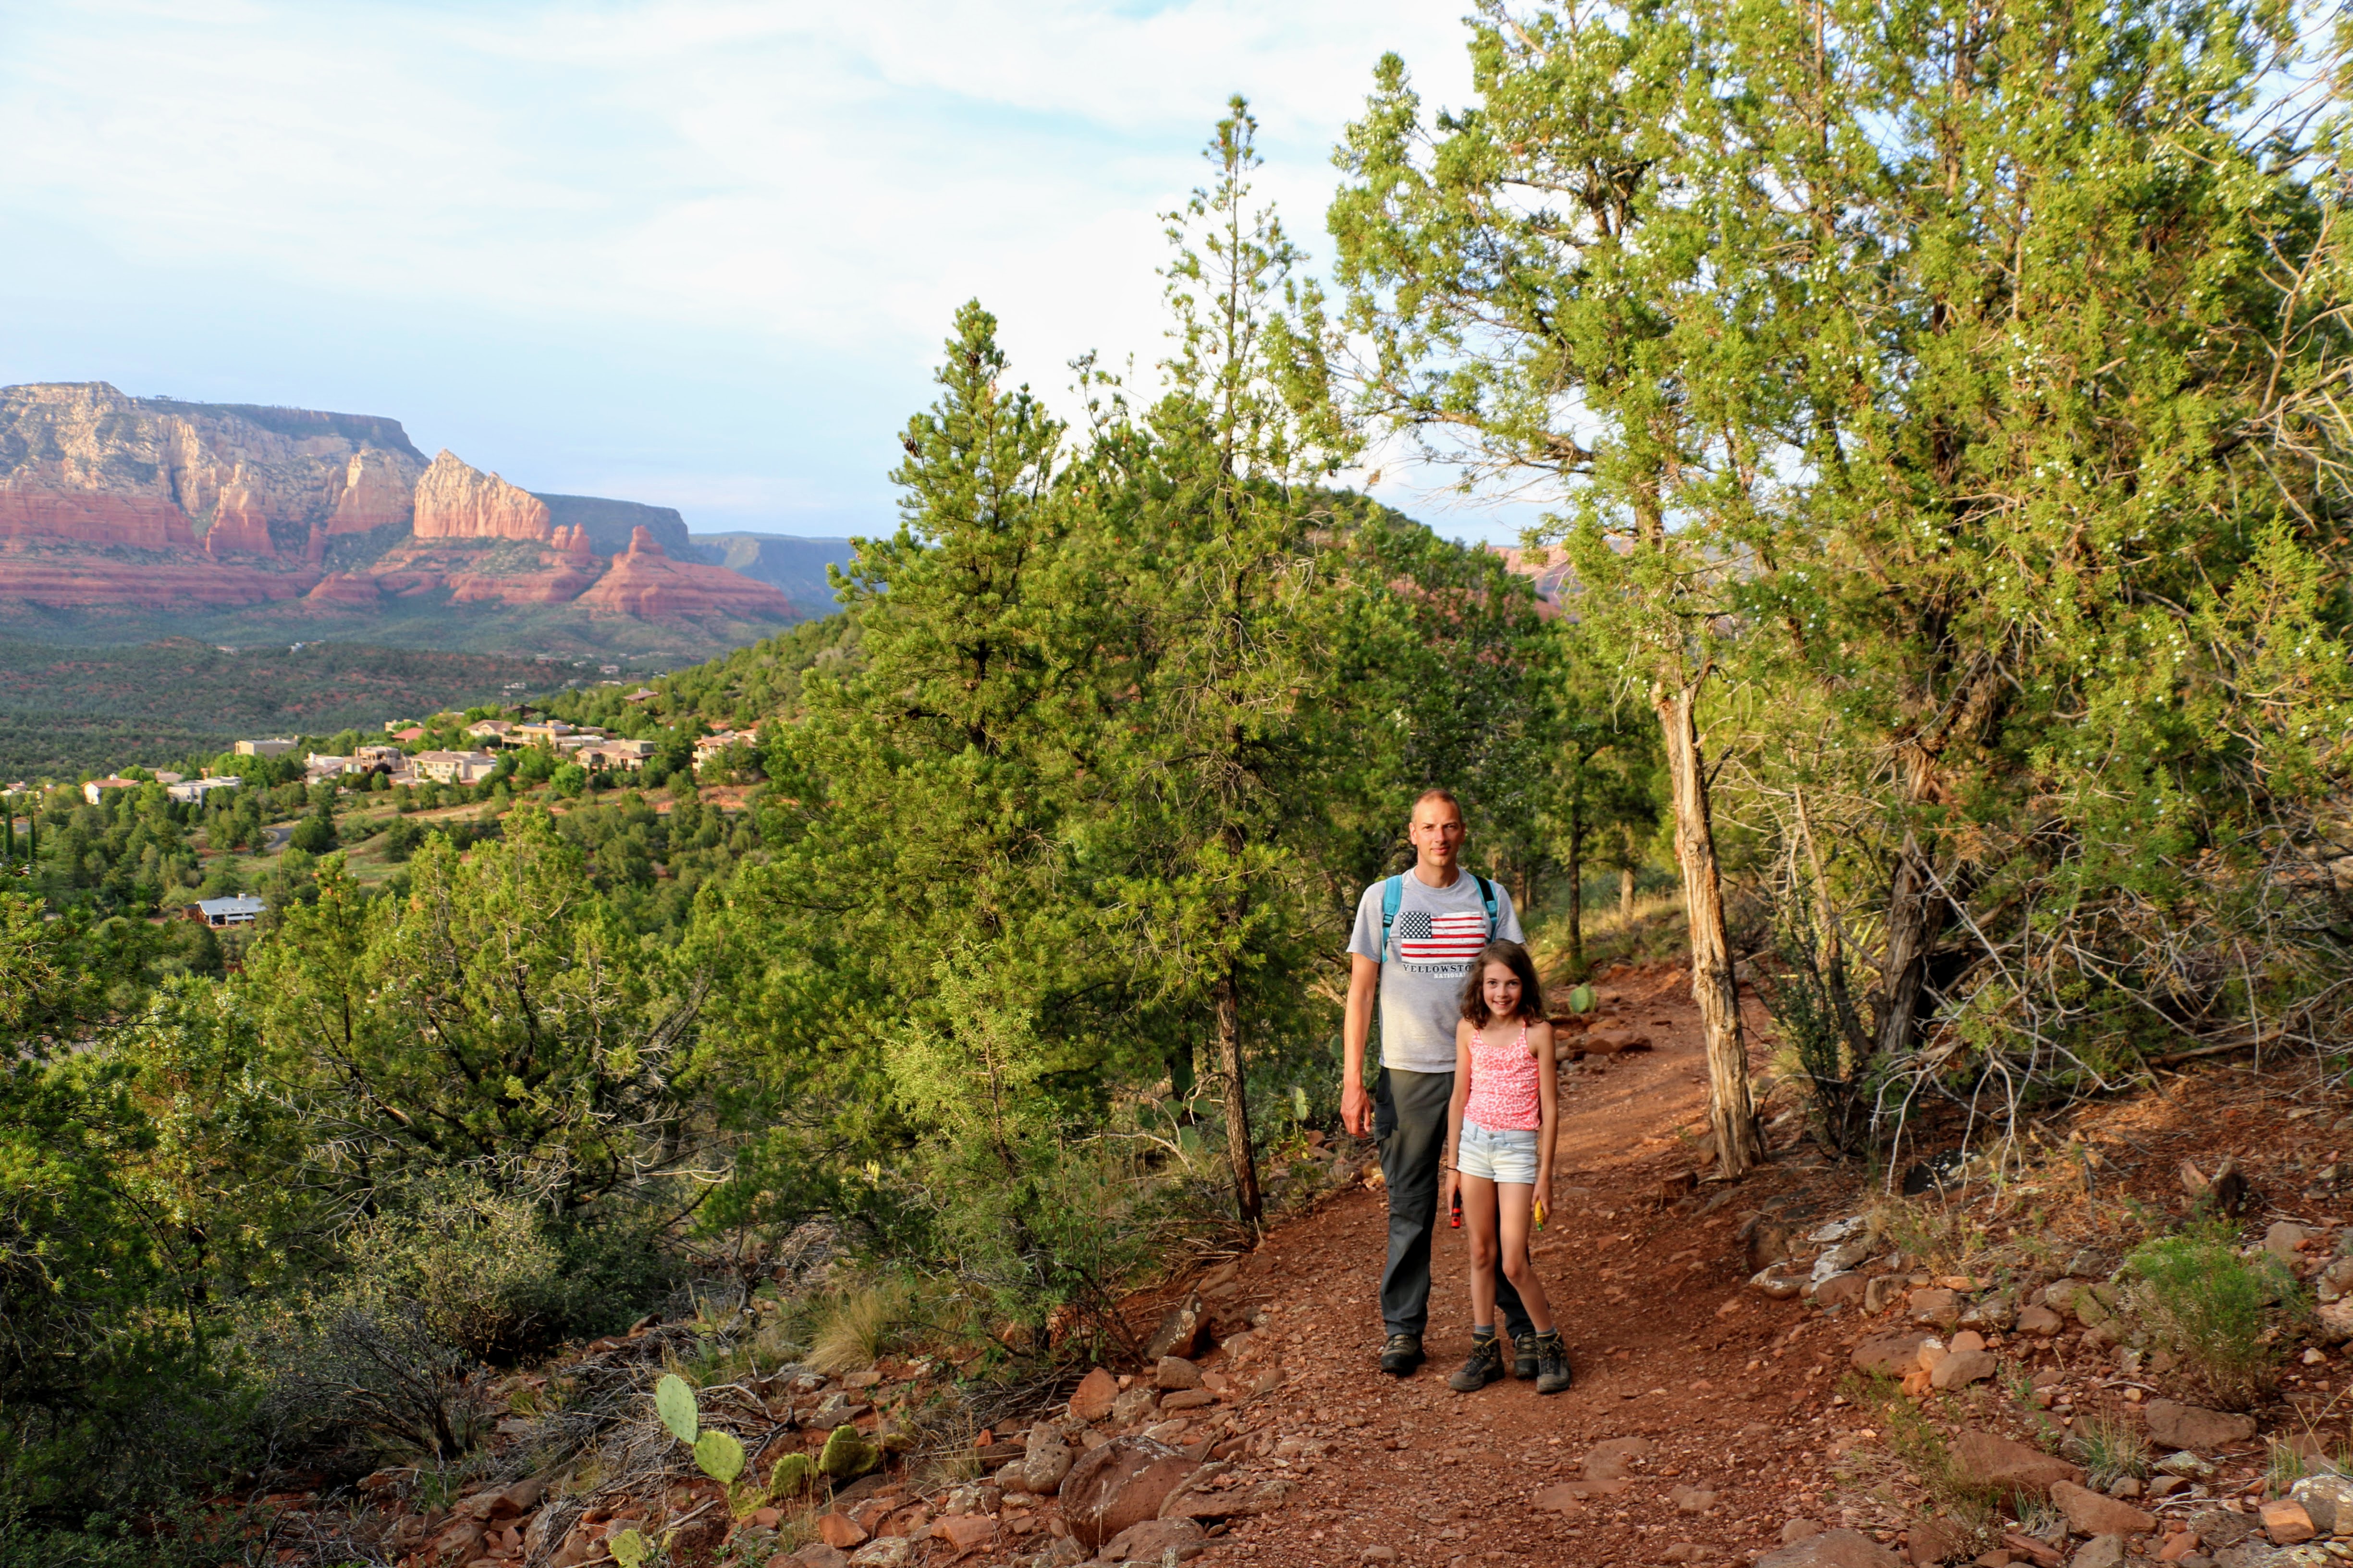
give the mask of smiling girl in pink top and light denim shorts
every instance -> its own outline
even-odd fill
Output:
[[[1544,1018],[1537,966],[1520,943],[1487,943],[1471,966],[1464,1016],[1454,1025],[1454,1100],[1440,1157],[1438,1199],[1447,1208],[1461,1199],[1471,1213],[1471,1359],[1447,1378],[1457,1394],[1504,1375],[1494,1338],[1497,1258],[1537,1326],[1537,1392],[1569,1387],[1569,1352],[1560,1347],[1553,1307],[1527,1255],[1529,1199],[1541,1197],[1551,1208],[1558,1133],[1553,1025]]]

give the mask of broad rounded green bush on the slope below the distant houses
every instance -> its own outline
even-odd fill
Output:
[[[626,1211],[687,1159],[680,1070],[706,980],[640,945],[544,811],[496,842],[428,839],[409,896],[329,858],[238,980],[261,1070],[301,1105],[306,1180],[362,1206],[475,1168],[558,1220]]]

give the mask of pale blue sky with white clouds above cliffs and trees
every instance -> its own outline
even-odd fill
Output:
[[[391,414],[696,531],[887,529],[953,308],[1016,376],[1160,353],[1155,214],[1252,96],[1322,259],[1381,49],[1468,92],[1459,0],[0,7],[0,383]],[[1513,538],[1440,473],[1381,494]]]

